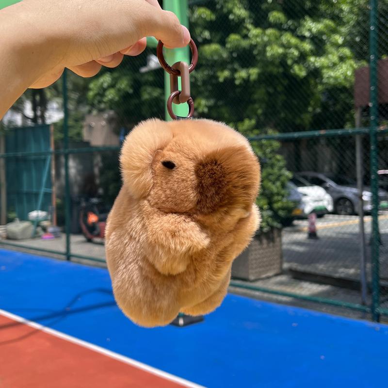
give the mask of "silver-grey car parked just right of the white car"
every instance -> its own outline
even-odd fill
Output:
[[[343,175],[321,174],[310,171],[300,172],[298,176],[309,183],[323,187],[331,195],[334,202],[334,212],[342,215],[352,215],[358,212],[358,190],[355,180]],[[388,192],[379,189],[379,208],[388,208]],[[364,186],[362,192],[363,208],[366,213],[372,210],[371,188]]]

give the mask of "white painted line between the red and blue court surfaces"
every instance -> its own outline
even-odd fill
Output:
[[[134,366],[136,368],[142,369],[143,371],[155,374],[157,376],[163,377],[163,378],[165,378],[167,380],[170,380],[170,381],[174,381],[175,383],[181,384],[181,385],[183,385],[185,387],[205,388],[204,386],[192,383],[191,381],[182,379],[182,378],[180,378],[178,376],[174,376],[173,374],[170,374],[170,373],[167,373],[167,372],[163,372],[160,369],[153,368],[153,367],[151,367],[151,366],[149,366],[147,364],[143,364],[142,362],[136,361],[136,360],[134,360],[132,358],[129,358],[129,357],[126,357],[126,356],[122,356],[122,355],[120,355],[118,353],[111,352],[110,350],[107,350],[107,349],[104,349],[104,348],[102,348],[100,346],[94,345],[93,343],[83,341],[82,339],[78,339],[78,338],[69,336],[69,335],[67,335],[65,333],[61,333],[60,331],[57,331],[57,330],[51,329],[49,327],[43,326],[40,323],[29,321],[28,319],[25,319],[23,317],[19,317],[18,315],[12,314],[12,313],[10,313],[8,311],[0,309],[0,314],[3,315],[4,317],[10,318],[10,319],[12,319],[14,321],[17,321],[17,322],[20,322],[20,323],[24,323],[24,324],[26,324],[28,326],[31,326],[31,327],[33,327],[35,329],[38,329],[40,331],[43,331],[45,333],[51,334],[51,335],[53,335],[55,337],[58,337],[58,338],[61,338],[61,339],[65,339],[65,340],[73,342],[73,343],[75,343],[77,345],[84,346],[85,348],[94,350],[95,352],[101,353],[104,356],[112,357],[112,358],[114,358],[114,359],[116,359],[118,361],[122,361],[122,362],[124,362],[126,364],[129,364],[129,365],[132,365],[132,366]]]

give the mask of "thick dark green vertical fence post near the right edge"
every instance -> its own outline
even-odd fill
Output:
[[[377,94],[377,0],[371,0],[370,13],[370,139],[371,139],[371,187],[372,187],[372,318],[380,320],[380,268],[379,268],[379,220],[378,220],[378,94]]]

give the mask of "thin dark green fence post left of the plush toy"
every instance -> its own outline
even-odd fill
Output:
[[[70,184],[69,184],[69,112],[67,106],[67,71],[62,76],[62,93],[64,98],[64,151],[65,151],[65,233],[66,260],[70,260]]]

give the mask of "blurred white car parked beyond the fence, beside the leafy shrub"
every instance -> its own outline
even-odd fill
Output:
[[[320,186],[314,186],[301,177],[291,179],[291,185],[301,194],[297,207],[292,215],[295,217],[307,217],[310,213],[316,213],[323,217],[334,209],[333,198]]]

